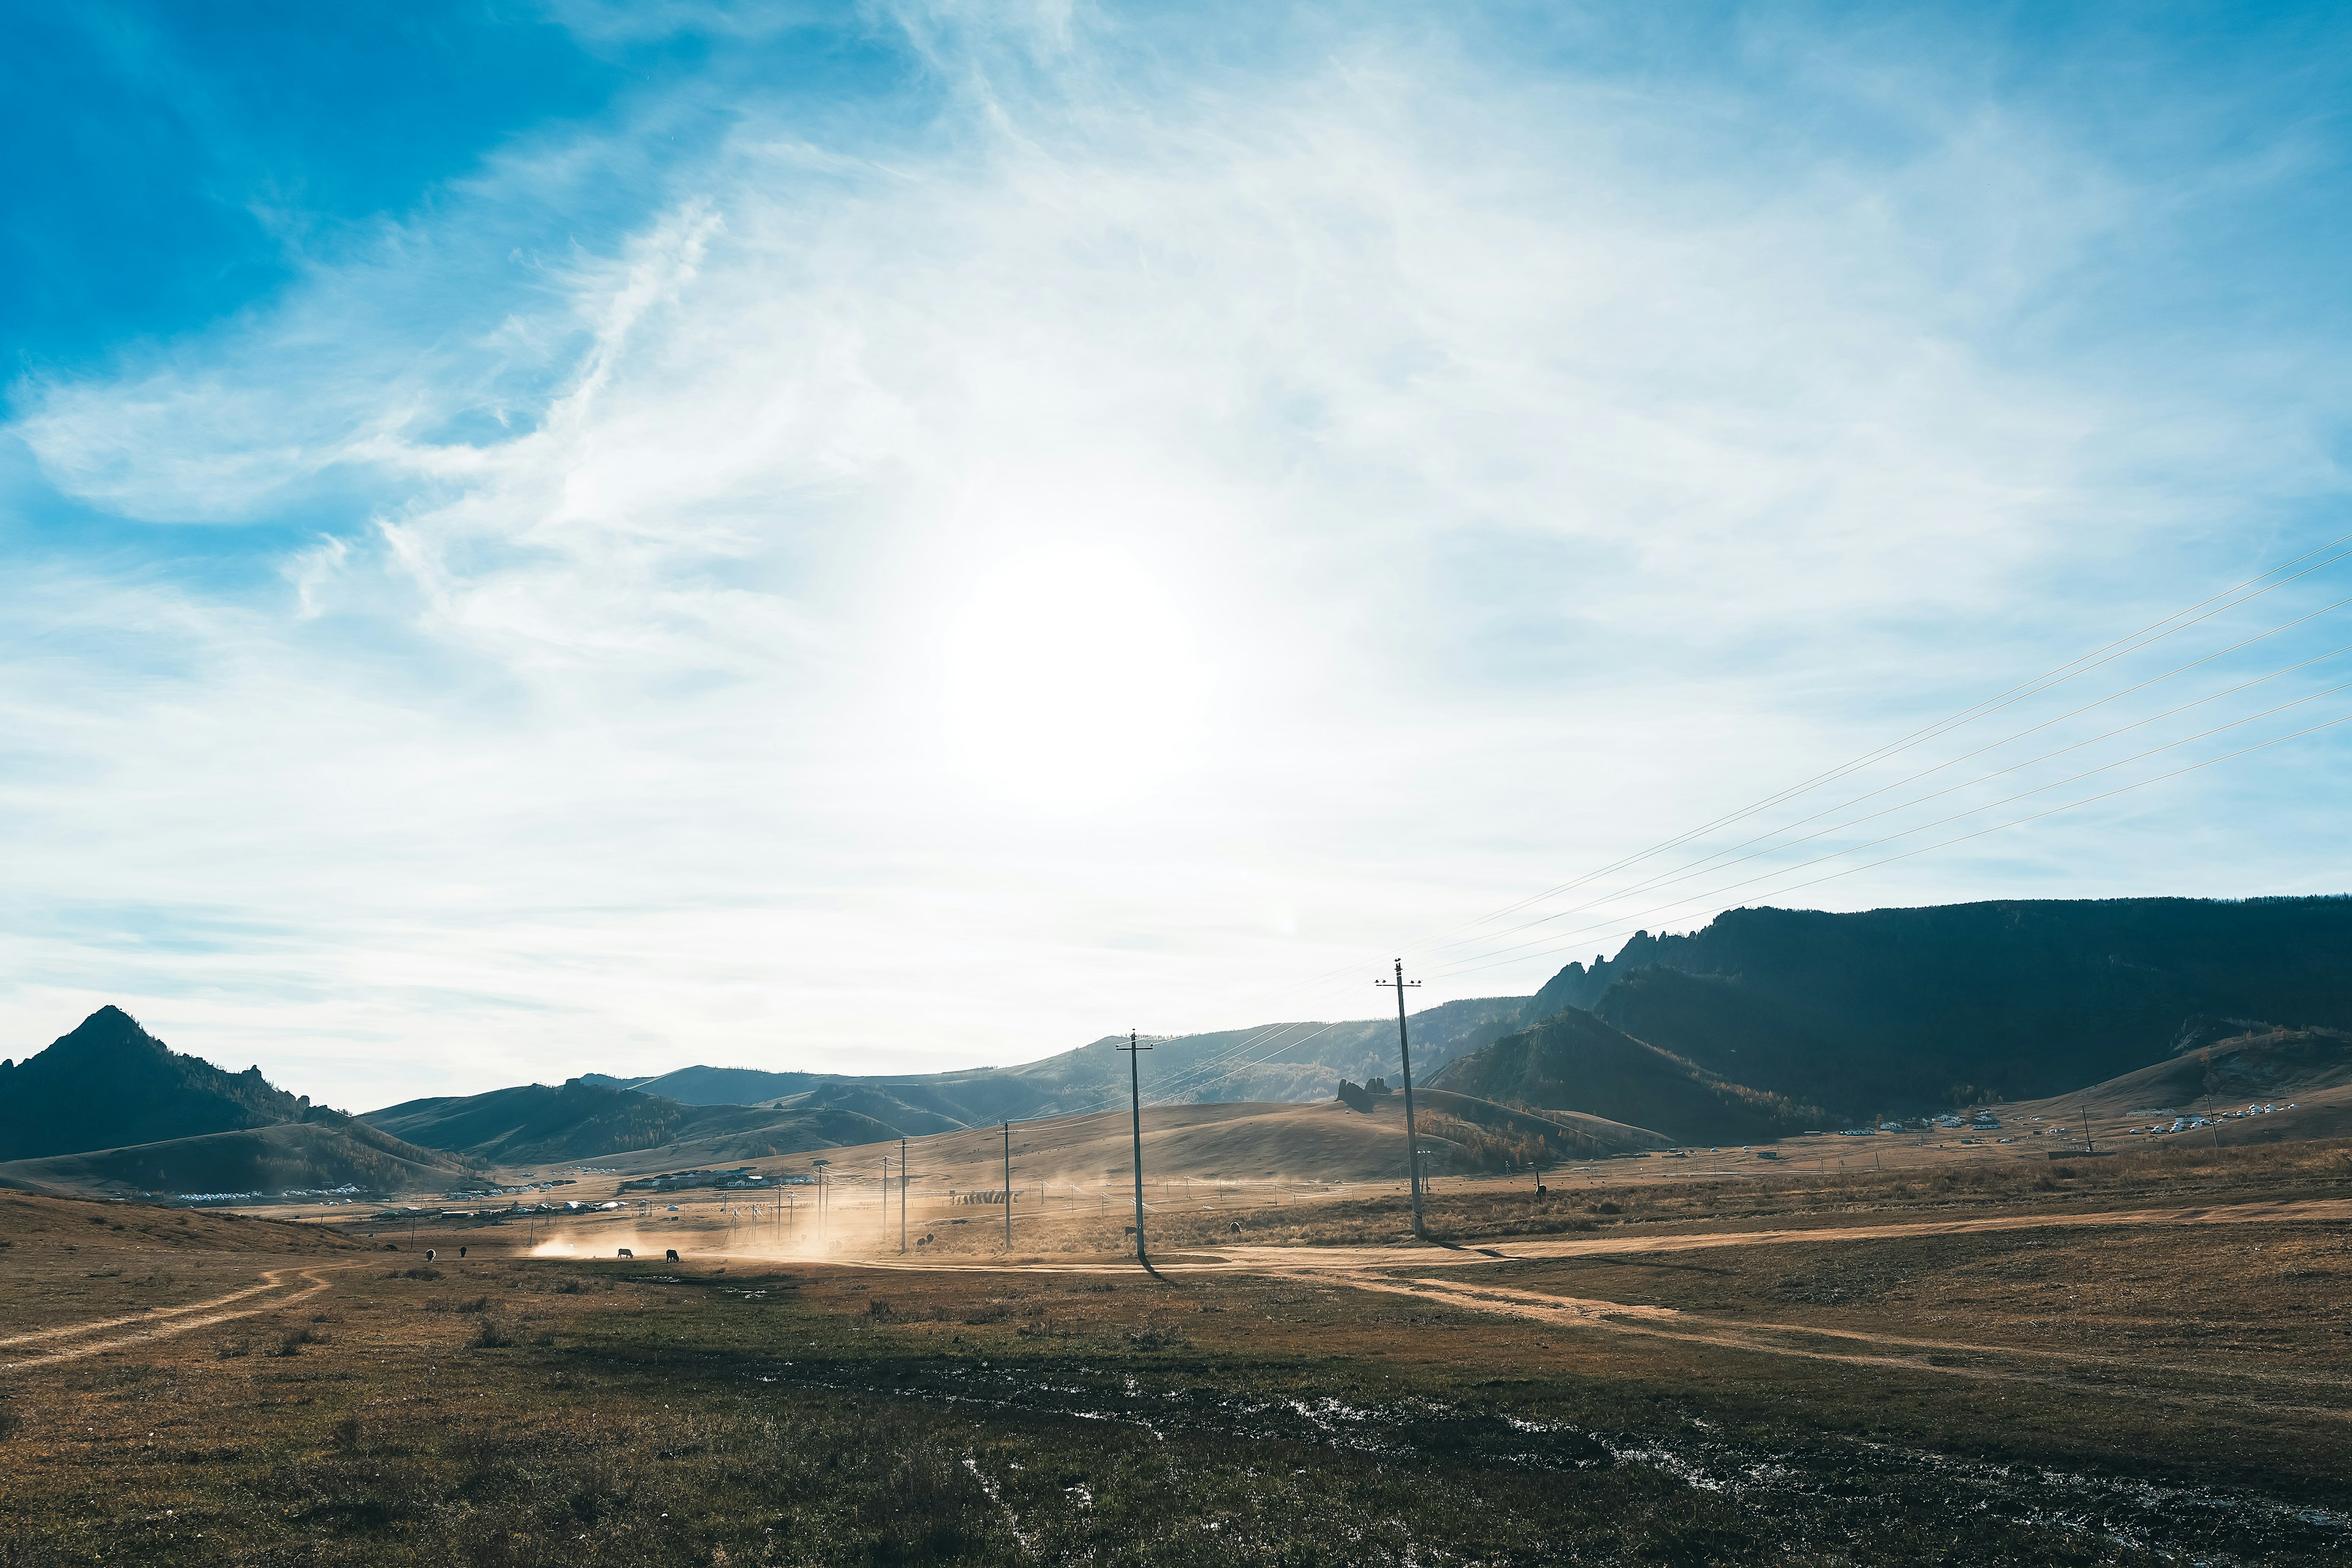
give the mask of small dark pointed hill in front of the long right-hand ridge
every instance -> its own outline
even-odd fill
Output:
[[[1743,1143],[1820,1126],[1816,1105],[1722,1079],[1573,1006],[1446,1063],[1430,1088],[1606,1117],[1672,1143]]]

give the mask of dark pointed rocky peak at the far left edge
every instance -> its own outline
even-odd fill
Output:
[[[261,1067],[179,1056],[118,1006],[24,1063],[0,1063],[0,1161],[301,1121],[306,1095]]]

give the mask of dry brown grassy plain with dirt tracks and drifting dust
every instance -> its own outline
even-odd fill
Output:
[[[2345,1145],[746,1206],[0,1194],[0,1563],[2352,1561]]]

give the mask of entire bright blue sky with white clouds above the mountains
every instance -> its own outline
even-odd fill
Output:
[[[913,1072],[2347,891],[2347,78],[2317,5],[14,7],[0,1056]]]

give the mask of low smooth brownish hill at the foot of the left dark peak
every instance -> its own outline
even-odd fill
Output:
[[[310,1121],[198,1133],[47,1159],[0,1164],[0,1185],[42,1192],[414,1192],[470,1182],[463,1161],[313,1110]]]

